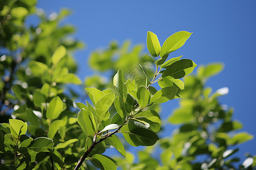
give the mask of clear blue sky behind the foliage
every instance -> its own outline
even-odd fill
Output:
[[[49,1],[39,0],[38,7],[48,14],[68,7],[73,14],[64,20],[77,27],[75,37],[86,43],[75,57],[79,61],[79,76],[93,73],[88,63],[89,53],[126,39],[144,44],[146,33],[152,31],[164,40],[177,31],[193,32],[183,48],[174,56],[191,58],[197,65],[225,63],[224,71],[207,83],[217,90],[229,87],[221,103],[234,107],[234,118],[243,129],[256,137],[255,127],[255,65],[256,65],[256,1]],[[144,49],[146,52],[146,48]],[[177,101],[163,106],[167,117]],[[171,127],[171,131],[175,127]],[[238,155],[256,154],[256,139],[240,145]]]

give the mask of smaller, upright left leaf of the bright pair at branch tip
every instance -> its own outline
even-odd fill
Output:
[[[158,36],[150,31],[147,32],[147,49],[153,57],[158,57],[161,51]]]

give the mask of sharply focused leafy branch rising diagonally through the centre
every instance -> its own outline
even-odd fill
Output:
[[[110,166],[110,159],[102,157],[97,159],[98,163],[96,163],[94,156],[100,156],[98,154],[105,151],[106,145],[112,145],[125,155],[122,143],[115,136],[117,133],[122,133],[131,146],[152,146],[158,141],[159,138],[155,132],[160,129],[160,117],[156,111],[148,107],[180,96],[179,92],[184,89],[184,83],[180,78],[190,74],[196,64],[190,59],[180,59],[181,57],[164,61],[171,52],[183,46],[190,35],[189,32],[181,31],[170,36],[164,42],[164,48],[162,47],[166,51],[162,52],[156,35],[148,32],[149,52],[154,57],[158,57],[162,52],[164,58],[160,56],[155,62],[156,71],[151,81],[144,72],[146,76],[144,85],[139,86],[133,79],[126,80],[123,70],[118,70],[113,78],[114,91],[110,88],[103,91],[97,88],[85,88],[93,105],[87,101],[86,105],[77,103],[81,109],[77,120],[86,135],[85,146],[88,148],[77,167],[80,167],[85,158],[89,158],[98,168],[110,168],[104,165],[108,160],[108,166]],[[160,90],[151,86],[156,82],[160,84]],[[93,152],[94,150],[98,151],[97,154]],[[92,158],[90,155],[93,155]],[[112,163],[112,165],[115,169],[115,164]]]

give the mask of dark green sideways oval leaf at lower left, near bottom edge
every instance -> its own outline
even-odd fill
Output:
[[[34,141],[31,142],[30,146],[28,148],[31,148],[31,150],[34,151],[40,151],[40,152],[49,152],[49,149],[52,149],[53,141],[50,138],[46,137],[39,137],[36,138]]]

